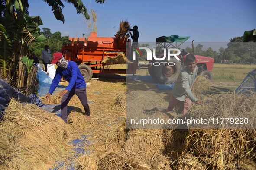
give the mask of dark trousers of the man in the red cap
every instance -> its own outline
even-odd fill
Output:
[[[86,95],[86,88],[72,88],[71,91],[68,91],[62,96],[61,100],[61,108],[62,108],[62,119],[67,122],[67,116],[68,116],[68,102],[70,99],[75,95],[78,96],[79,100],[81,101],[86,116],[90,116],[90,108],[87,101],[87,95]]]

